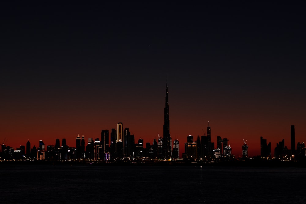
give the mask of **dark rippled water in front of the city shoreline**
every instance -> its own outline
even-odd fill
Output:
[[[306,169],[0,165],[0,203],[305,203]]]

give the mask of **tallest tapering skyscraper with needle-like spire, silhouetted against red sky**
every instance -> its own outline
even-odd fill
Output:
[[[169,120],[169,104],[168,104],[168,79],[166,80],[166,104],[164,109],[164,126],[163,126],[163,153],[166,159],[171,158],[172,139],[170,137],[170,120]]]

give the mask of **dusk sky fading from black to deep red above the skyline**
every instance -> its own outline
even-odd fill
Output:
[[[260,155],[260,136],[306,142],[304,1],[112,2],[0,7],[0,142],[54,145],[100,138],[122,122],[162,136],[229,139]]]

